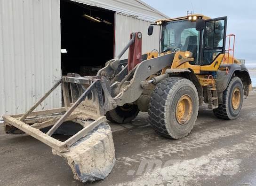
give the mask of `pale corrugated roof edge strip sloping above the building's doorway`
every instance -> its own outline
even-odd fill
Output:
[[[134,15],[135,17],[151,22],[157,19],[166,19],[168,16],[160,14],[153,8],[140,3],[140,0],[72,0],[90,6],[109,9],[123,14]]]

